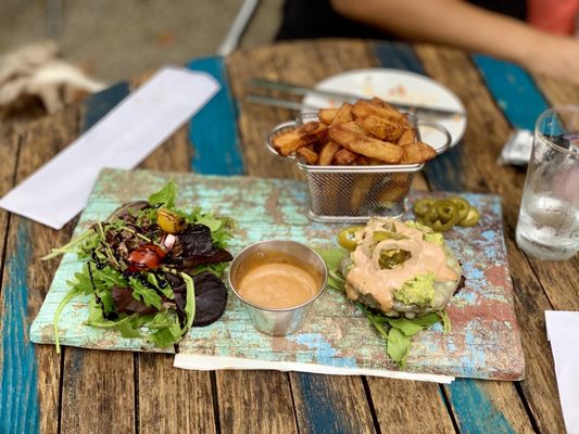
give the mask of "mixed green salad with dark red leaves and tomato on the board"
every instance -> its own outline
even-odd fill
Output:
[[[232,259],[226,245],[234,222],[200,208],[178,209],[176,194],[171,181],[42,258],[75,252],[83,261],[54,315],[58,352],[59,317],[77,296],[90,296],[88,326],[160,347],[221,317],[227,302],[221,276]]]

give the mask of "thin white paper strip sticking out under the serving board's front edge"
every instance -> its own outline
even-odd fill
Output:
[[[297,361],[251,360],[239,357],[200,356],[194,354],[176,354],[173,362],[175,368],[196,369],[199,371],[224,369],[264,369],[276,371],[295,371],[324,373],[328,375],[372,375],[399,380],[430,381],[450,384],[454,376],[433,373],[417,373],[404,371],[387,371],[381,369],[340,368],[327,365],[303,363]]]

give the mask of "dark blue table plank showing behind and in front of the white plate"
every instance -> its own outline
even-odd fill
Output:
[[[374,43],[374,53],[381,67],[405,69],[416,74],[426,75],[416,52],[407,43],[376,41]],[[463,173],[462,148],[461,143],[457,143],[452,150],[425,165],[423,171],[432,190],[464,190],[464,183],[460,176],[460,174]]]

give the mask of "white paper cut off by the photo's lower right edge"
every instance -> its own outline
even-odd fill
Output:
[[[579,434],[579,312],[545,310],[555,375],[568,434]]]

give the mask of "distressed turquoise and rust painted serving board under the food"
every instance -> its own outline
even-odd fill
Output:
[[[335,243],[341,225],[307,219],[307,190],[303,182],[250,177],[161,174],[148,170],[104,170],[83,213],[75,235],[96,219],[105,218],[121,204],[146,199],[173,179],[177,205],[203,209],[236,219],[230,251],[235,254],[253,242],[291,239],[313,246]],[[440,324],[414,339],[406,371],[454,376],[520,380],[525,361],[513,310],[511,278],[506,264],[500,197],[465,194],[482,215],[475,228],[455,228],[445,235],[463,265],[465,288],[448,308],[452,332]],[[411,201],[417,195],[411,196]],[[412,217],[408,215],[408,217]],[[74,254],[63,257],[50,291],[30,329],[35,343],[53,343],[53,316],[68,291],[66,281],[81,264]],[[73,299],[62,311],[62,345],[99,349],[162,350],[140,339],[123,339],[116,331],[84,324],[88,298]],[[310,311],[309,321],[293,335],[272,337],[250,323],[241,303],[230,292],[224,316],[213,324],[191,330],[179,352],[266,361],[301,362],[340,368],[395,371],[385,353],[383,341],[343,295],[327,290]]]

